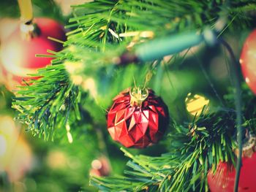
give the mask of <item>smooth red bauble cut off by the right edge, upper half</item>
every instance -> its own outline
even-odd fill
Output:
[[[256,94],[256,29],[244,42],[240,64],[247,85]]]

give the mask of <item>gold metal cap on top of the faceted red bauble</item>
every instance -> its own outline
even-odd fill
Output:
[[[130,104],[132,107],[141,107],[143,101],[148,98],[148,89],[135,87],[129,90],[129,95],[131,96]]]

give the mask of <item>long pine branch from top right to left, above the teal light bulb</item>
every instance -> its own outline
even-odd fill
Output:
[[[56,57],[53,64],[60,65],[40,70],[39,74],[34,75],[42,78],[33,81],[34,84],[29,87],[21,88],[14,102],[15,108],[21,112],[19,119],[29,124],[34,134],[42,135],[45,139],[53,136],[56,124],[65,126],[69,110],[75,111],[79,119],[77,105],[80,94],[78,87],[69,82],[61,64],[64,61],[83,64],[76,75],[84,80],[86,74],[96,75],[105,66],[118,63],[116,59],[131,42],[138,44],[152,37],[203,28],[206,24],[214,26],[217,18],[223,14],[230,20],[234,20],[236,15],[233,22],[239,20],[240,16],[246,20],[242,13],[254,8],[255,4],[249,1],[223,4],[222,1],[195,0],[178,3],[163,0],[102,0],[74,6],[75,17],[69,20],[71,24],[67,27],[75,29],[68,33],[67,42],[64,42],[67,49],[59,53],[49,50]],[[222,12],[222,9],[227,11]],[[143,34],[145,31],[148,31],[146,38]],[[57,115],[58,112],[61,115]],[[63,115],[67,117],[63,118]]]

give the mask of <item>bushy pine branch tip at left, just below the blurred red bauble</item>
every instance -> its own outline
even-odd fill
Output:
[[[20,86],[12,107],[20,112],[18,119],[34,135],[53,139],[54,131],[62,130],[72,120],[80,120],[80,91],[69,82],[63,64],[39,69],[32,76],[40,78],[31,80],[31,85]]]

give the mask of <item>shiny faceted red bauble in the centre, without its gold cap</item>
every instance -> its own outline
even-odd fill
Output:
[[[110,136],[125,147],[143,148],[158,142],[169,123],[167,106],[151,90],[141,106],[132,106],[130,100],[129,89],[113,99],[108,112]]]

